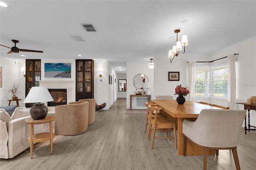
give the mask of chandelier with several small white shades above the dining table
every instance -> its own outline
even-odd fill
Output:
[[[178,41],[178,32],[180,30],[174,30],[175,33],[177,33],[177,39],[176,39],[176,45],[172,47],[172,49],[169,50],[168,57],[170,57],[170,62],[172,63],[172,60],[174,57],[178,56],[179,53],[185,53],[185,46],[188,45],[188,37],[186,35],[182,36],[181,41]],[[184,51],[182,51],[182,46],[184,46]]]

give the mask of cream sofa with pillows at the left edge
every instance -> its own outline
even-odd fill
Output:
[[[30,117],[30,108],[17,107],[12,117],[0,109],[0,158],[13,158],[30,147],[29,125],[25,119]],[[44,132],[44,125],[34,125],[34,134]]]

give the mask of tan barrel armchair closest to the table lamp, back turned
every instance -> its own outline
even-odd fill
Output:
[[[88,108],[86,101],[70,102],[55,107],[56,135],[77,135],[88,129]]]

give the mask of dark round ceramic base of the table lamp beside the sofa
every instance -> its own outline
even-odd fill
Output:
[[[47,116],[48,108],[44,103],[34,103],[34,106],[30,109],[30,116],[34,120],[44,119]]]

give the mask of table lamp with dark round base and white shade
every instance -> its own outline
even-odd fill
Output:
[[[47,116],[48,108],[41,102],[53,101],[48,89],[44,86],[32,87],[23,103],[34,103],[30,109],[32,119],[44,119]]]

